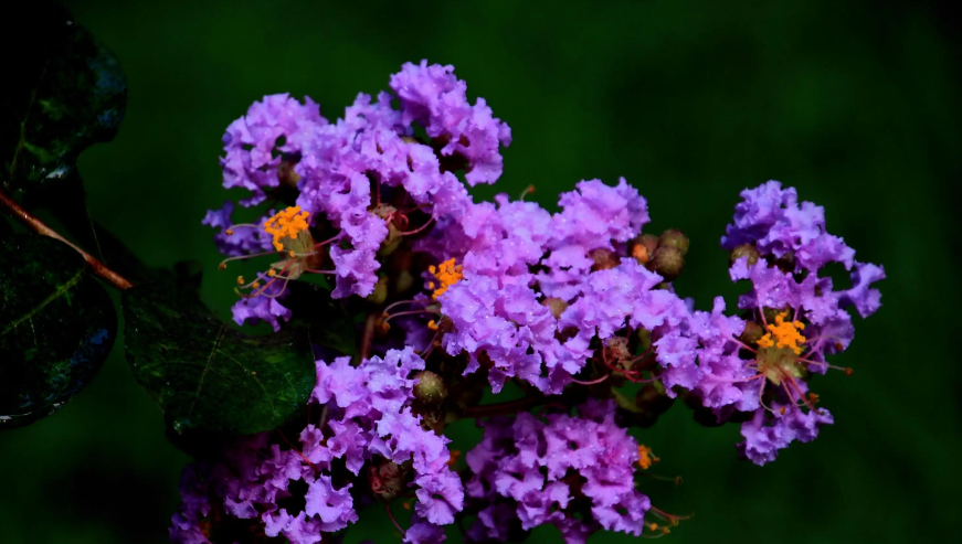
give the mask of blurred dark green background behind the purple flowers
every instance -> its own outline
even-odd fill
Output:
[[[731,296],[719,236],[738,192],[769,179],[826,207],[828,226],[881,263],[884,307],[817,380],[837,425],[773,465],[737,461],[734,426],[676,406],[642,433],[695,512],[677,543],[951,541],[959,533],[962,303],[960,71],[952,28],[927,4],[874,1],[67,1],[127,74],[119,136],[82,156],[91,211],[148,264],[203,263],[229,316],[205,210],[223,129],[264,94],[310,95],[334,119],[405,61],[451,63],[514,131],[496,188],[553,206],[581,179],[624,175],[653,232],[691,238],[678,290]],[[226,274],[226,273],[224,273]],[[160,543],[188,458],[131,380],[123,339],[63,410],[0,435],[0,542]],[[457,431],[464,444],[468,430]],[[348,542],[400,542],[378,512]],[[628,542],[596,536],[592,542]],[[557,542],[551,530],[532,542]],[[456,538],[455,538],[456,542]]]

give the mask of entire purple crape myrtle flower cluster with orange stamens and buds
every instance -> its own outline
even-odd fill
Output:
[[[648,203],[626,180],[582,181],[557,213],[526,202],[530,188],[475,202],[467,186],[501,174],[508,126],[451,66],[405,64],[390,89],[335,121],[267,96],[228,128],[224,186],[247,190],[258,218],[233,223],[228,202],[204,223],[222,268],[274,258],[237,278],[234,320],[287,327],[290,281],[313,274],[358,341],[317,361],[299,440],[239,438],[184,470],[176,542],[328,542],[374,501],[413,506],[394,521],[408,543],[452,524],[472,542],[545,524],[569,543],[663,535],[681,518],[639,489],[656,459],[632,427],[680,399],[699,423],[741,424],[738,451],[763,465],[833,423],[810,382],[852,373],[829,358],[853,340],[847,308],[879,308],[885,274],[828,234],[821,206],[775,181],[743,191],[721,246],[750,287],[734,312],[721,297],[698,310],[673,284],[688,238],[644,232]],[[522,397],[482,404],[506,388]],[[461,418],[484,439],[456,471],[444,430]]]

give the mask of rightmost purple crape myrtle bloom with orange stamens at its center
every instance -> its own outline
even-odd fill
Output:
[[[827,355],[844,351],[854,338],[845,308],[863,318],[874,313],[880,295],[869,286],[885,271],[856,262],[855,250],[825,231],[824,210],[800,205],[794,189],[770,181],[743,191],[742,199],[722,246],[733,249],[731,279],[751,282],[739,298],[747,320],[725,317],[725,303],[716,299],[710,314],[693,313],[701,322],[693,330],[705,333],[697,334],[690,353],[701,372],[696,396],[719,420],[749,414],[739,451],[764,465],[792,441],[811,441],[822,425],[834,423],[828,410],[815,406],[818,396],[807,381],[812,373],[839,369]],[[852,288],[834,290],[829,277],[818,276],[828,263],[853,269]]]

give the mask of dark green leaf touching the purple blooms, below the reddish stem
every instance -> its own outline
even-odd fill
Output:
[[[175,430],[271,430],[307,404],[316,372],[307,334],[242,334],[165,284],[127,289],[121,303],[127,362]]]

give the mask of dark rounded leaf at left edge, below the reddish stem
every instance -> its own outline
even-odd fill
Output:
[[[97,373],[114,303],[73,248],[18,234],[0,245],[0,428],[52,414]]]

